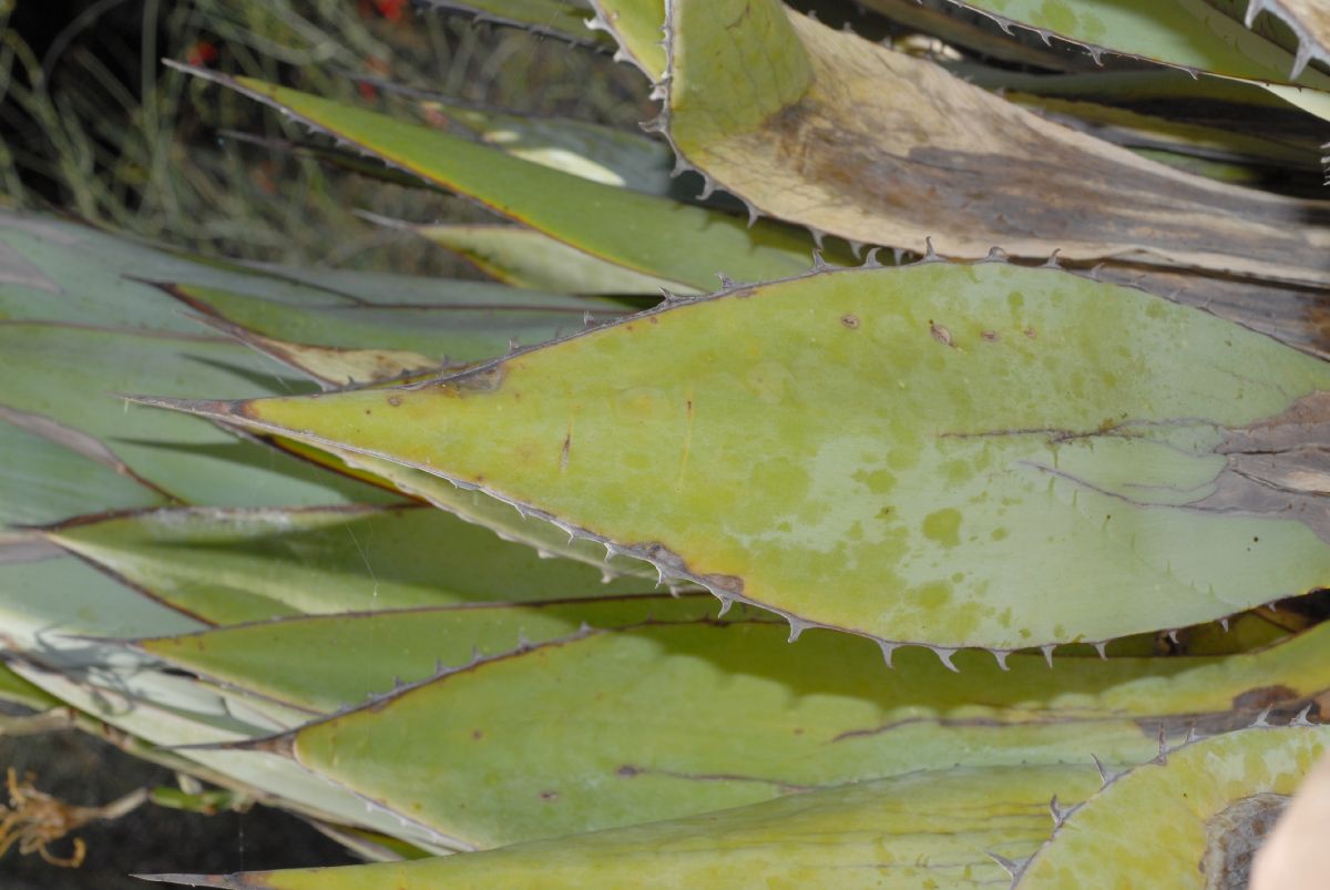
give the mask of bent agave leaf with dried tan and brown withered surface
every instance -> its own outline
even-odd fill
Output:
[[[920,253],[931,234],[962,257],[999,245],[1330,281],[1330,205],[1144,161],[775,0],[678,0],[670,32],[672,141],[763,213]]]

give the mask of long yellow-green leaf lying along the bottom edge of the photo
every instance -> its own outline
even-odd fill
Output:
[[[253,890],[521,886],[533,874],[547,887],[978,887],[1004,878],[990,853],[1021,858],[1047,837],[1051,796],[1080,800],[1096,784],[1084,766],[954,769],[458,857],[140,877]]]

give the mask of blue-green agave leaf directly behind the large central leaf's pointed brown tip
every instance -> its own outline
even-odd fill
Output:
[[[274,455],[206,423],[144,411],[121,394],[215,386],[235,394],[298,391],[245,346],[65,323],[0,322],[7,369],[0,410],[37,415],[61,435],[94,440],[160,496],[219,506],[307,506],[391,496],[306,462]],[[98,452],[101,454],[101,452]],[[109,455],[109,456],[108,456]]]

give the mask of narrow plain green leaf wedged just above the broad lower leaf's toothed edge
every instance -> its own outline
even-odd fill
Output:
[[[141,640],[148,653],[273,700],[331,713],[477,657],[577,633],[650,620],[700,621],[712,597],[693,593],[604,595],[533,603],[529,608],[418,608],[282,619],[185,636]],[[343,653],[329,661],[329,652]],[[874,667],[878,667],[874,664]]]

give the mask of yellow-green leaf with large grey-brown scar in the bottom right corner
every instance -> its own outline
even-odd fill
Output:
[[[1168,752],[1059,819],[1016,887],[1244,886],[1248,857],[1327,740],[1325,726],[1257,728]]]

